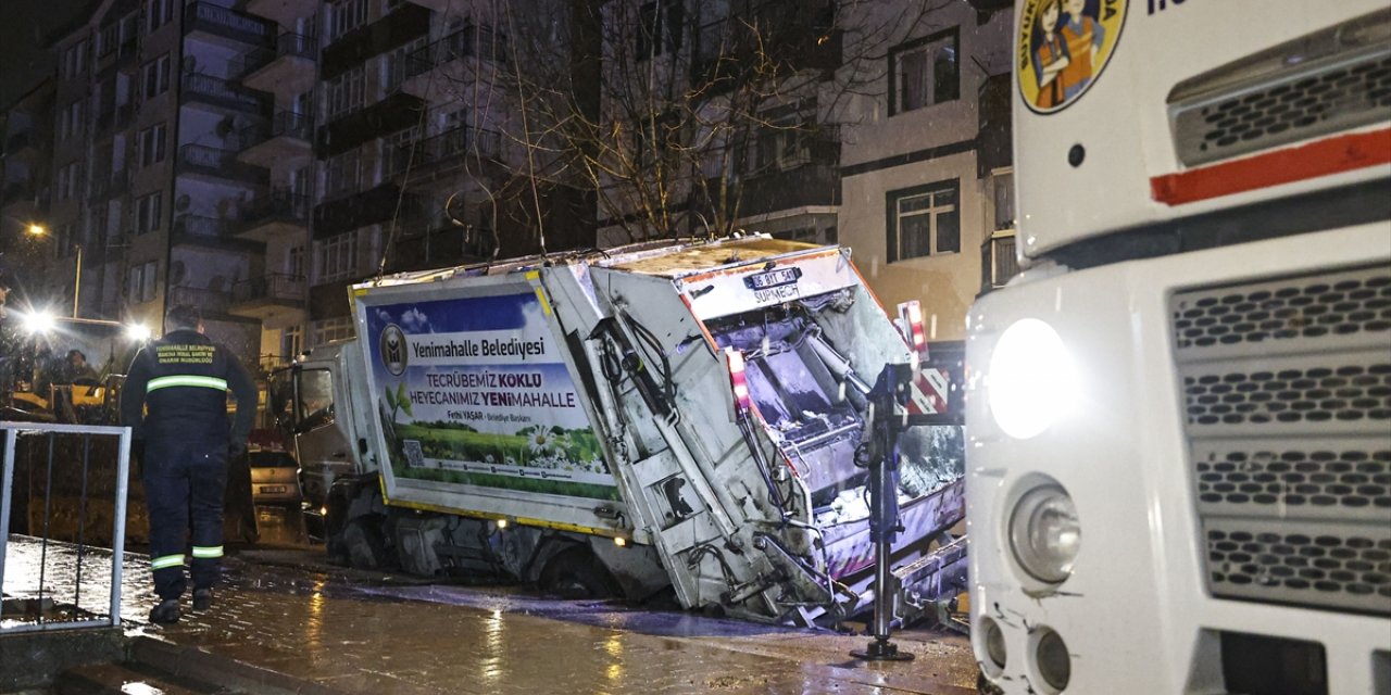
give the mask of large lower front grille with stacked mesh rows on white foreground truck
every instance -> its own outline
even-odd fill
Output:
[[[1170,299],[1214,596],[1391,614],[1391,272]]]

